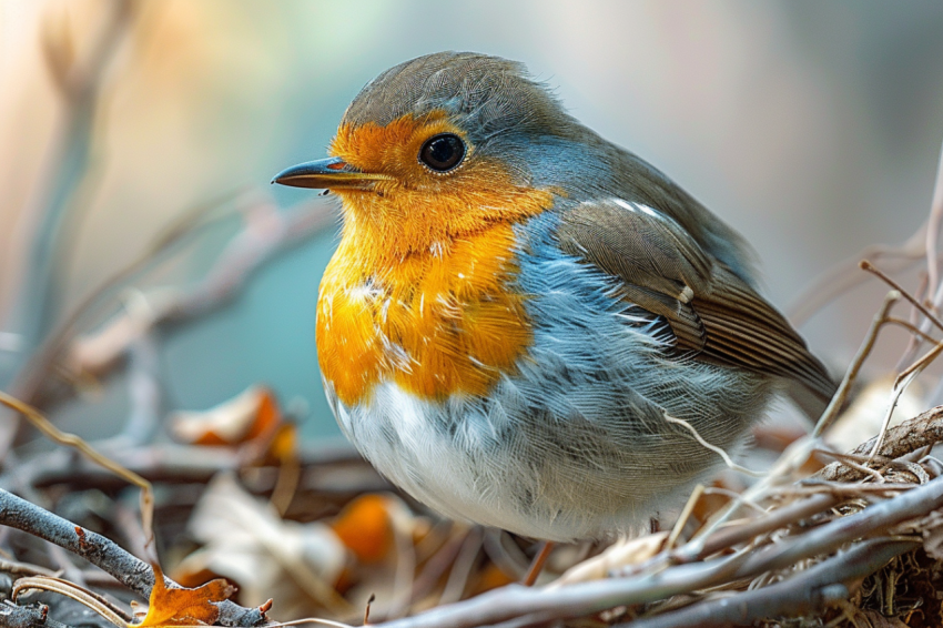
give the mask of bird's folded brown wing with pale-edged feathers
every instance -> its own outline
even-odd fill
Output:
[[[621,280],[620,295],[663,316],[680,351],[794,379],[828,399],[834,383],[772,305],[673,220],[622,200],[561,214],[562,250]]]

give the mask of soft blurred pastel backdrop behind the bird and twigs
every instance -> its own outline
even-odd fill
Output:
[[[80,394],[49,394],[45,409],[101,437],[142,395],[160,412],[202,409],[264,383],[305,417],[307,440],[337,438],[313,333],[336,201],[268,181],[323,156],[374,75],[444,49],[525,62],[742,232],[768,295],[795,311],[817,275],[926,219],[941,32],[931,0],[0,0],[0,387],[135,260],[73,336],[140,321],[168,286],[242,267],[256,260],[246,237],[274,237],[222,306],[131,334],[140,351],[123,358],[143,361],[156,389],[133,368],[79,368],[60,375]],[[286,216],[302,216],[296,240]],[[150,255],[175,224],[186,236]],[[825,362],[844,368],[884,292],[870,281],[809,318]]]

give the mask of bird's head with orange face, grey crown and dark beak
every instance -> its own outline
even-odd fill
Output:
[[[337,193],[348,223],[402,254],[549,207],[587,133],[519,63],[440,52],[368,83],[332,156],[275,182]]]

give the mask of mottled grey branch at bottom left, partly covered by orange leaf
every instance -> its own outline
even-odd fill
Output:
[[[30,504],[0,488],[0,524],[43,538],[77,554],[113,576],[138,595],[150,598],[154,586],[151,566],[132,556],[107,537],[87,530],[58,515]],[[168,588],[180,585],[164,577]],[[222,626],[263,626],[265,614],[225,600],[219,604]]]

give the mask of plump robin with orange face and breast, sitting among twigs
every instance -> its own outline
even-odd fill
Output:
[[[546,541],[638,534],[773,398],[835,386],[733,229],[515,61],[381,73],[326,159],[316,345],[342,432],[438,513]]]

